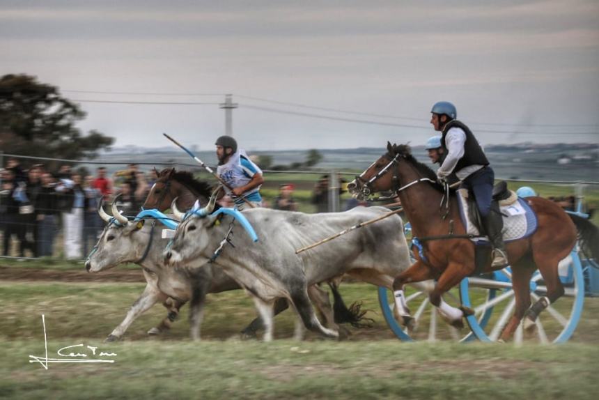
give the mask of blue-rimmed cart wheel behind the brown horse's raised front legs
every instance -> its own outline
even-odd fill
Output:
[[[483,301],[490,301],[495,297],[495,290],[486,291],[485,298]],[[450,291],[444,295],[444,300],[450,305],[457,307],[460,305],[458,300],[457,290]],[[454,340],[454,341],[471,341],[476,340],[476,337],[472,332],[468,332],[464,335],[464,332],[460,332],[449,325],[447,325],[442,318],[439,316],[438,311],[428,301],[428,295],[421,291],[414,289],[406,289],[406,302],[412,316],[414,316],[415,329],[410,332],[403,325],[400,325],[394,316],[394,299],[393,293],[384,287],[378,288],[378,300],[382,315],[387,321],[387,325],[396,337],[402,341],[414,341],[414,340]],[[481,325],[488,323],[492,314],[492,307],[488,308],[481,315]]]

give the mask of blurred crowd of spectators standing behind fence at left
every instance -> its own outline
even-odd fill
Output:
[[[62,236],[63,256],[81,259],[91,251],[104,223],[98,216],[101,199],[112,201],[125,215],[137,214],[156,176],[145,174],[137,164],[111,177],[99,167],[95,176],[70,165],[50,171],[43,164],[24,169],[10,158],[0,169],[0,232],[4,256],[60,256],[54,248]],[[11,252],[11,243],[17,244]]]

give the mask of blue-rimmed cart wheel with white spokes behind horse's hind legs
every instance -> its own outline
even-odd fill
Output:
[[[577,248],[560,263],[559,276],[566,293],[538,316],[532,330],[525,332],[521,323],[514,334],[515,342],[563,343],[570,339],[580,320],[584,303],[584,278]],[[474,315],[467,317],[467,323],[479,340],[497,341],[499,338],[515,307],[511,288],[509,267],[488,277],[471,277],[461,282],[462,304],[475,311]],[[472,304],[476,296],[481,297],[481,293],[492,290],[497,291],[494,298],[478,305]],[[533,303],[547,293],[543,277],[538,271],[531,278],[530,293]],[[492,316],[481,318],[490,307],[495,311]]]

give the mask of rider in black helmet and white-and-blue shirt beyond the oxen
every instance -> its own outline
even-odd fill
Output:
[[[225,192],[233,198],[238,210],[248,207],[240,196],[254,206],[260,207],[262,205],[260,185],[264,183],[262,170],[249,160],[245,151],[238,150],[237,141],[233,137],[221,136],[215,144],[219,159],[217,174],[232,189],[225,188]]]

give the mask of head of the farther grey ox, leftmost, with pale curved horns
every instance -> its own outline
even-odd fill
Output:
[[[88,272],[107,270],[120,263],[135,261],[148,245],[151,226],[144,228],[145,220],[127,220],[118,212],[114,202],[111,208],[114,217],[104,211],[102,202],[98,206],[98,214],[107,225],[85,263]]]

